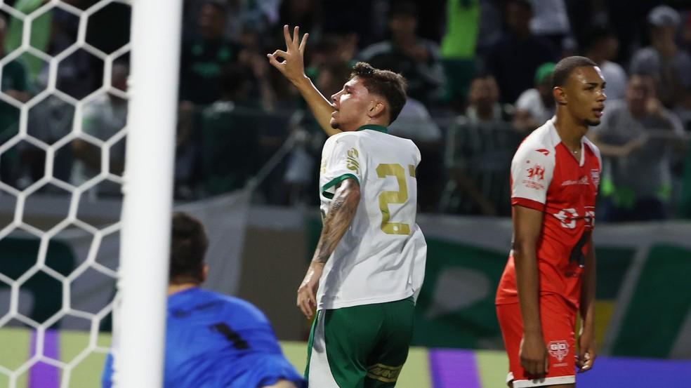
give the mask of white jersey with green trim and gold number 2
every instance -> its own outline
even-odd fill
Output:
[[[417,296],[427,243],[415,223],[420,151],[383,126],[331,136],[322,150],[320,199],[327,215],[338,183],[353,178],[360,203],[324,267],[317,309],[393,302]]]

